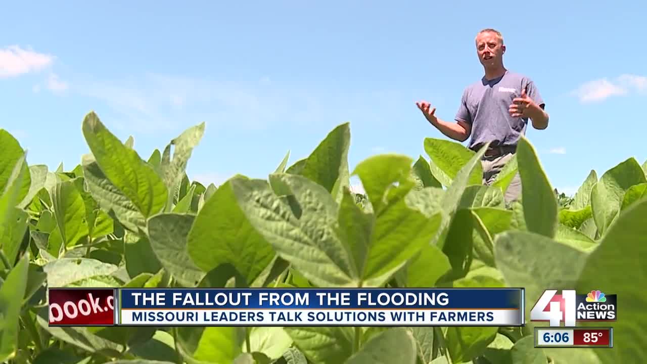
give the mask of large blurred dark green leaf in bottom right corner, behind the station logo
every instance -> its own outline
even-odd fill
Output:
[[[617,294],[622,300],[622,315],[613,323],[613,350],[597,352],[604,363],[630,363],[636,358],[647,358],[647,316],[644,315],[647,293],[637,289],[647,286],[642,260],[647,255],[645,216],[647,200],[644,199],[620,212],[586,260],[577,282],[578,291],[600,290]]]

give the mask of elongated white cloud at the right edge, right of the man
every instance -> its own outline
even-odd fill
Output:
[[[609,80],[600,78],[580,85],[573,95],[580,99],[580,102],[602,101],[613,96],[626,96],[632,93],[647,92],[647,76],[636,74],[621,74]]]

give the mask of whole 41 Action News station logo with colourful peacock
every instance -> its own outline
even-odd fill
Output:
[[[616,321],[617,295],[599,290],[576,294],[575,290],[545,290],[532,307],[531,321],[549,321],[550,326],[575,326],[578,321]]]

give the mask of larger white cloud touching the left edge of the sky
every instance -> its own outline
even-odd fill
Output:
[[[0,78],[40,71],[54,62],[54,56],[10,45],[0,49]]]

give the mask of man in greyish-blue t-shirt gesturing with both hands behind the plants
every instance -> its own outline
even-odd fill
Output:
[[[490,28],[481,30],[476,36],[476,53],[485,76],[463,91],[455,122],[435,116],[436,109],[430,110],[429,102],[416,104],[428,122],[447,137],[463,142],[472,135],[468,144],[471,150],[477,151],[485,142],[490,142],[481,164],[483,184],[491,185],[516,152],[528,120],[532,120],[533,128],[543,130],[548,126],[549,116],[534,82],[503,66],[505,45],[500,32]],[[506,203],[518,199],[520,194],[521,179],[516,174],[505,191]]]

